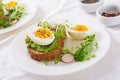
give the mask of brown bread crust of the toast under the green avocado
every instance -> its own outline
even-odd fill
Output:
[[[30,54],[31,58],[37,61],[52,61],[57,59],[61,52],[62,52],[62,48],[64,46],[64,39],[63,38],[59,38],[58,39],[58,47],[51,52],[39,52],[39,51],[35,51],[33,49],[27,48],[28,49],[28,53]]]

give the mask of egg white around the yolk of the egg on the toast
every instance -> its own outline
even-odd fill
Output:
[[[49,45],[51,44],[54,39],[55,39],[55,36],[54,34],[52,33],[50,37],[48,38],[39,38],[39,37],[36,37],[34,32],[36,32],[40,27],[36,27],[36,28],[33,28],[31,29],[30,31],[28,31],[27,33],[27,36],[35,43],[39,44],[39,45]]]

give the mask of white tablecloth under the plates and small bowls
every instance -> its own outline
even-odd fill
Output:
[[[30,1],[30,0],[28,0]],[[32,1],[32,0],[31,0]],[[113,0],[105,0],[105,3],[112,3]],[[114,0],[120,2],[120,0]],[[111,37],[111,46],[107,55],[94,66],[74,74],[65,76],[37,76],[24,72],[13,65],[9,59],[9,47],[14,37],[4,40],[11,35],[17,35],[25,28],[35,24],[39,20],[48,19],[49,21],[70,20],[71,22],[86,20],[99,23],[95,14],[87,14],[80,6],[78,0],[34,0],[38,12],[29,24],[23,27],[0,35],[0,80],[120,80],[120,26],[104,27]]]

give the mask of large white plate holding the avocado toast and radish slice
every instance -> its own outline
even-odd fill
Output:
[[[11,48],[10,48],[10,59],[21,69],[37,74],[37,75],[65,75],[77,71],[81,71],[83,69],[86,69],[93,64],[97,63],[100,59],[103,58],[103,56],[107,53],[109,46],[110,46],[110,38],[107,32],[98,27],[98,25],[86,25],[96,32],[96,38],[99,43],[99,48],[95,51],[96,57],[90,59],[89,61],[85,62],[75,62],[71,64],[64,64],[64,63],[59,63],[59,64],[49,64],[45,65],[42,62],[35,61],[30,58],[26,44],[25,44],[25,37],[26,37],[26,32],[30,29],[26,29],[22,33],[20,33],[16,39],[13,41]],[[33,26],[35,27],[35,26]],[[68,43],[70,44],[70,43]],[[70,44],[71,45],[71,44]]]

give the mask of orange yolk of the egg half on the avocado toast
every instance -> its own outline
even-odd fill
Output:
[[[50,30],[45,28],[39,28],[34,34],[39,38],[48,38],[51,36]]]

